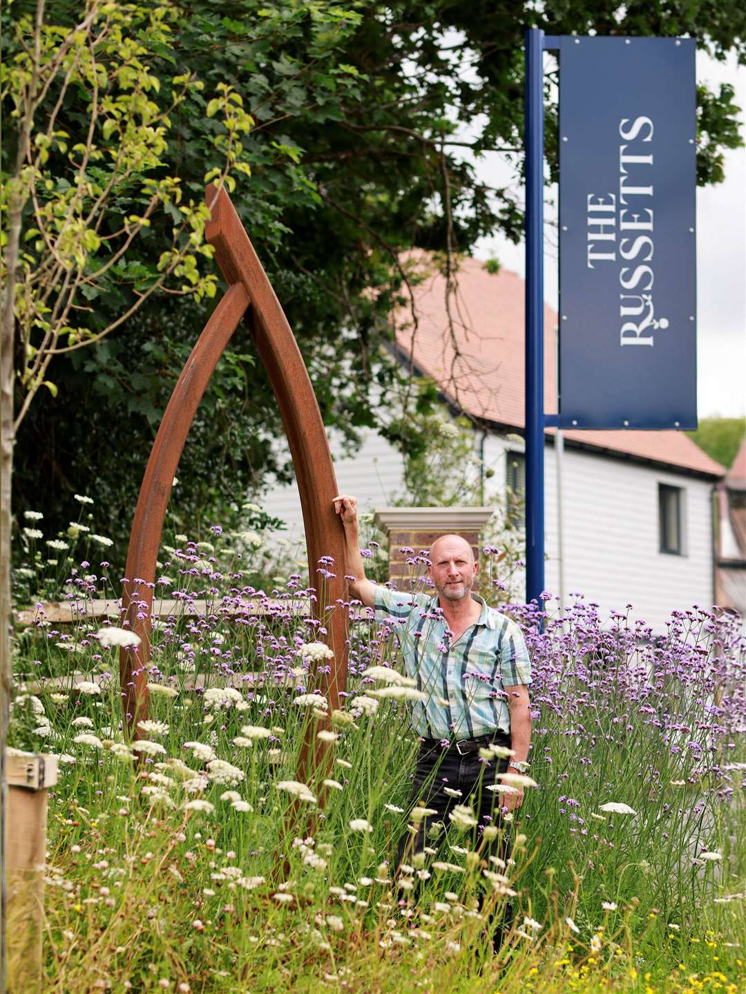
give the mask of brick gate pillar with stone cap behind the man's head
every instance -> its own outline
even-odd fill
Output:
[[[411,567],[407,559],[413,549],[416,556],[427,552],[441,535],[461,535],[471,545],[479,560],[480,535],[492,518],[491,507],[379,507],[373,510],[375,525],[388,536],[388,579],[397,587],[409,585],[414,570],[419,576],[423,567]],[[479,579],[479,576],[478,576]],[[479,583],[475,583],[475,588]]]

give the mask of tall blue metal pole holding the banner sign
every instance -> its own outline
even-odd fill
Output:
[[[544,33],[525,33],[525,599],[544,588]]]

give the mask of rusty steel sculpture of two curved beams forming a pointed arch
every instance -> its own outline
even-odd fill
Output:
[[[332,505],[336,477],[324,422],[295,336],[271,283],[223,187],[206,191],[211,220],[206,237],[215,247],[227,292],[216,307],[171,396],[145,469],[127,549],[122,587],[122,623],[139,635],[137,649],[122,648],[119,676],[126,724],[137,737],[137,723],[148,715],[147,667],[156,560],[171,487],[187,434],[210,378],[238,322],[251,331],[282,415],[303,508],[308,570],[312,585],[319,560],[334,559],[333,578],[318,582],[312,612],[317,629],[334,651],[331,672],[315,673],[314,686],[330,710],[339,707],[347,679],[348,617],[335,606],[345,593],[344,534]],[[323,745],[308,723],[299,775],[320,762]]]

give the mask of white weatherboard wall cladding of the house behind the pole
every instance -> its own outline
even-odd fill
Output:
[[[403,490],[399,453],[367,431],[359,453],[335,459],[341,491],[355,494],[363,511],[390,504]],[[481,433],[477,435],[479,443]],[[522,451],[519,436],[489,434],[484,442],[485,504],[500,503],[505,491],[506,452]],[[545,585],[559,592],[557,561],[556,457],[544,453]],[[602,617],[634,605],[656,632],[666,631],[671,610],[712,603],[712,485],[706,480],[635,463],[629,459],[565,447],[563,457],[564,592],[580,592],[599,604]],[[683,490],[684,554],[661,553],[659,483]],[[263,508],[283,518],[288,535],[303,533],[298,490],[274,487]]]

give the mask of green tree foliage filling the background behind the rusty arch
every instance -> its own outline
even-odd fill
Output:
[[[554,4],[544,13],[533,6],[98,5],[90,37],[104,25],[108,34],[94,56],[71,36],[73,75],[66,88],[59,73],[40,94],[22,171],[28,197],[17,306],[28,330],[16,357],[17,410],[29,388],[47,390],[19,428],[14,507],[41,501],[52,519],[60,497],[86,489],[94,473],[97,492],[111,495],[112,534],[128,527],[168,388],[211,294],[220,292],[202,242],[206,181],[224,177],[287,312],[322,415],[354,446],[358,428],[391,420],[373,411],[372,397],[376,406],[380,397],[383,407],[399,401],[381,348],[390,340],[392,307],[406,299],[398,253],[468,252],[496,230],[516,242],[522,236],[513,190],[477,180],[461,148],[463,129],[456,132],[470,123],[475,155],[514,150],[506,154],[518,179],[526,25],[551,34],[689,33],[717,56],[744,52],[746,14],[735,3],[619,8],[604,0],[591,8]],[[2,12],[5,203],[30,85],[21,41],[35,9],[16,0]],[[83,15],[63,0],[46,10],[43,62],[51,67]],[[698,178],[717,182],[722,150],[739,140],[736,108],[727,87],[714,94],[700,87],[698,103]],[[548,108],[555,171],[554,125]],[[166,289],[182,295],[178,306]],[[108,351],[99,355],[100,342],[83,359],[80,347],[117,322]],[[48,325],[59,336],[52,354],[41,349]],[[290,475],[286,447],[275,443],[282,426],[266,377],[245,358],[253,354],[245,331],[235,338],[234,357],[203,402],[180,466],[176,508],[185,518],[217,513],[226,496],[242,499],[267,474]],[[394,410],[399,418],[400,406]],[[403,420],[409,414],[405,407]],[[413,432],[402,421],[398,434]],[[94,459],[107,445],[111,457]]]

